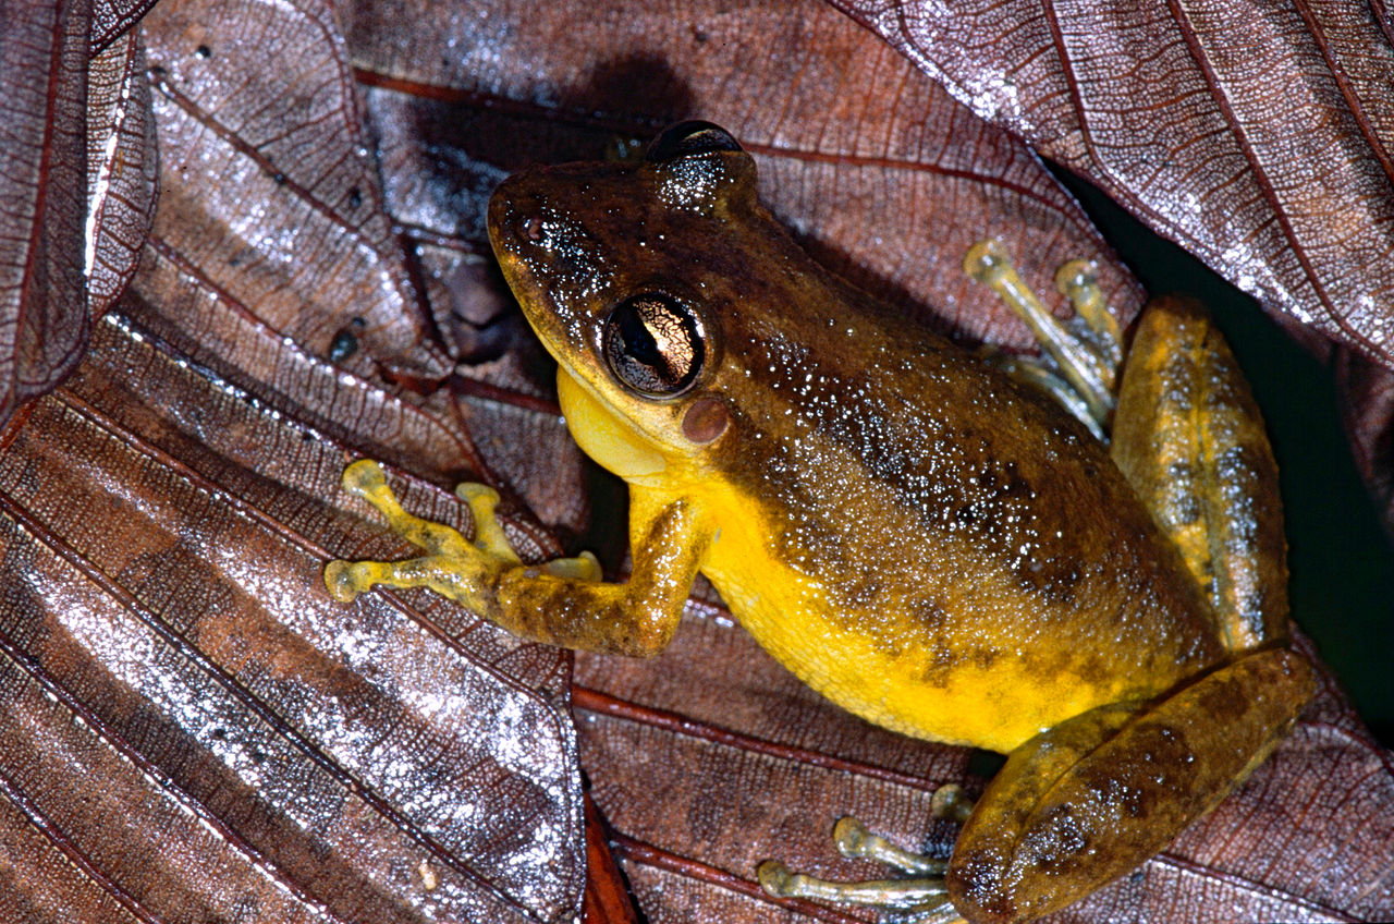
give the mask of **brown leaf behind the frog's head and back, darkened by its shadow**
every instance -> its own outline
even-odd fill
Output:
[[[821,4],[612,4],[605,29],[576,28],[594,14],[572,3],[546,15],[362,3],[347,15],[389,209],[424,240],[482,240],[487,194],[524,163],[601,158],[701,117],[756,155],[761,197],[815,255],[919,320],[1030,346],[962,271],[984,236],[1008,243],[1051,304],[1055,269],[1076,257],[1101,258],[1125,318],[1142,304],[1025,147]]]

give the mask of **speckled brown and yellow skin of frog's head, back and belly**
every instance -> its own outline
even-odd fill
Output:
[[[673,193],[648,165],[524,172],[489,226],[548,349],[669,458],[638,507],[710,511],[700,568],[761,645],[873,722],[1001,751],[1224,656],[1083,427],[821,271],[756,201],[746,155],[686,173]],[[658,403],[598,352],[611,306],[652,289],[708,343],[694,387]],[[701,396],[730,426],[694,447],[672,422]]]

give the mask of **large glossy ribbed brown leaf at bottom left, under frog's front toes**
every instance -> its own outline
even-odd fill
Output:
[[[572,918],[567,657],[332,600],[326,557],[404,551],[348,458],[121,318],[11,433],[0,920]]]

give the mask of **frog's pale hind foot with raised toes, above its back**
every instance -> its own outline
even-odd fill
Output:
[[[984,240],[969,248],[963,269],[990,286],[1036,335],[1041,359],[994,355],[1008,374],[1054,396],[1103,441],[1115,405],[1122,334],[1110,314],[1093,265],[1066,262],[1055,274],[1055,288],[1075,307],[1071,321],[1059,321],[1036,297],[1008,260],[1001,244]]]

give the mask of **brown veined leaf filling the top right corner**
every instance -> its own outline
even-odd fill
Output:
[[[1394,364],[1383,4],[835,1],[1270,310]]]

